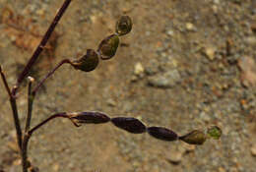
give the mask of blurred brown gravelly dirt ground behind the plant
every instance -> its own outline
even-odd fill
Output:
[[[10,85],[61,4],[0,0],[0,64]],[[56,112],[96,110],[179,135],[214,124],[223,137],[190,146],[57,119],[32,137],[32,164],[56,172],[255,172],[255,0],[74,0],[31,76],[38,82],[62,59],[96,49],[123,14],[134,25],[115,57],[92,73],[63,66],[37,94],[32,126]],[[2,82],[0,102],[0,171],[21,171]],[[24,121],[26,85],[18,105]]]

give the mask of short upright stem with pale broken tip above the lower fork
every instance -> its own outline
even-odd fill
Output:
[[[30,130],[31,127],[31,121],[32,121],[32,102],[34,99],[34,96],[32,95],[32,83],[33,78],[29,77],[29,86],[28,86],[28,116],[26,121],[26,127],[25,127],[25,133],[27,133]]]

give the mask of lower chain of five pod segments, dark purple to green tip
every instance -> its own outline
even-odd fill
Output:
[[[140,120],[132,117],[110,118],[102,112],[76,112],[69,114],[70,120],[76,124],[102,124],[111,122],[114,126],[132,134],[148,133],[153,138],[161,141],[172,142],[180,140],[189,144],[203,144],[207,139],[218,140],[222,130],[212,126],[206,132],[194,130],[186,135],[178,136],[175,132],[164,127],[146,127]]]

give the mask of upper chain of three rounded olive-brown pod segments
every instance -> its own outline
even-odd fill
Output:
[[[115,33],[105,37],[99,43],[97,50],[88,49],[87,54],[78,60],[71,62],[71,65],[84,72],[94,71],[101,60],[111,59],[119,46],[119,36],[123,36],[132,30],[132,20],[129,16],[121,16],[115,25]]]

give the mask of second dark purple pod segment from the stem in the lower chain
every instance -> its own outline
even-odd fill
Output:
[[[146,126],[136,118],[117,117],[112,118],[111,122],[118,128],[133,134],[146,132]]]

